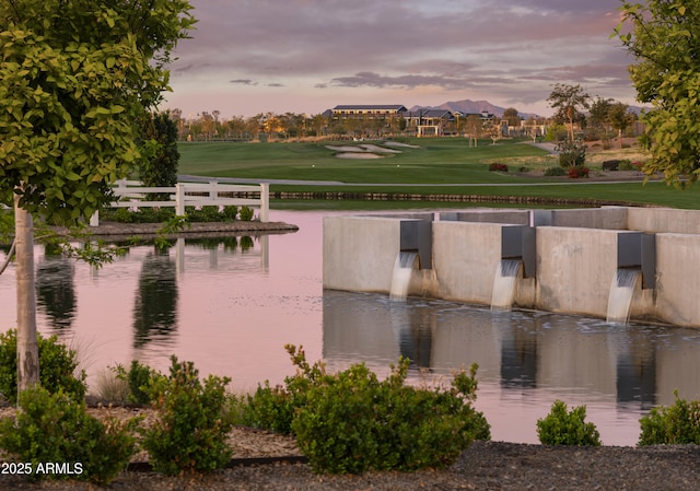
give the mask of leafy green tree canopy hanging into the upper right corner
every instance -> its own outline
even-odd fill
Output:
[[[700,0],[623,2],[615,33],[635,58],[637,98],[651,104],[642,142],[648,175],[685,187],[700,175]]]

